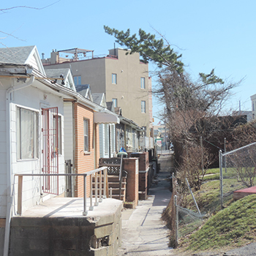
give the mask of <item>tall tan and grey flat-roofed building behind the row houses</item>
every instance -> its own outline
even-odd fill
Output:
[[[151,78],[139,53],[130,55],[129,50],[115,48],[107,56],[96,57],[92,50],[53,50],[42,63],[45,69],[71,68],[75,86],[89,84],[92,94],[105,93],[106,102],[113,102],[123,116],[153,137]]]

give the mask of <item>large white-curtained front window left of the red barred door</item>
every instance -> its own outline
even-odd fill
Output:
[[[17,159],[38,158],[38,113],[17,108]]]

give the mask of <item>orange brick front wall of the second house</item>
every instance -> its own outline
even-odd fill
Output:
[[[75,103],[75,170],[76,173],[86,173],[94,170],[94,151],[96,150],[96,161],[99,159],[99,129],[96,129],[96,145],[94,148],[94,111]],[[83,148],[83,120],[89,121],[89,152],[84,152]],[[89,177],[86,180],[89,196]],[[83,197],[83,176],[75,178],[75,197]]]

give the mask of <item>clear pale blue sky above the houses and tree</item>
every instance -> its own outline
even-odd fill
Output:
[[[0,8],[45,7],[55,0],[4,1]],[[114,37],[104,25],[118,30],[141,28],[163,34],[182,53],[182,61],[193,78],[211,72],[222,79],[238,82],[227,108],[251,110],[250,96],[256,94],[256,1],[253,0],[131,0],[57,1],[42,10],[18,8],[0,13],[1,47],[37,45],[39,53],[50,56],[52,49],[83,48],[95,55],[107,54]],[[118,46],[118,45],[116,45]],[[150,66],[154,70],[153,66]],[[162,106],[154,100],[154,116]],[[159,119],[155,118],[155,124]]]

